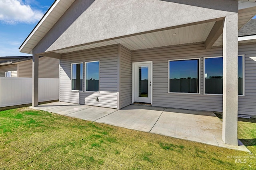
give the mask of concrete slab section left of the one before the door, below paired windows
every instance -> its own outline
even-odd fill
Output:
[[[87,109],[70,113],[68,116],[84,120],[96,121],[97,119],[100,119],[101,117],[109,115],[115,111],[117,111],[117,109],[91,106]]]

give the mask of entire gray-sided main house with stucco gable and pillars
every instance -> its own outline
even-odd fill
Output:
[[[32,105],[38,56],[53,57],[61,102],[221,111],[222,139],[238,145],[238,113],[256,115],[256,40],[238,45],[252,2],[56,0],[20,47],[33,54]]]

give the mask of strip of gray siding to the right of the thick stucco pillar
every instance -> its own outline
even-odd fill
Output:
[[[245,96],[238,97],[238,113],[256,115],[256,45],[239,45],[238,54],[245,56]]]

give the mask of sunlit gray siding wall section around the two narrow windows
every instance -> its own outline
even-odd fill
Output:
[[[117,53],[118,46],[112,45],[63,54],[60,60],[60,101],[117,109]],[[100,61],[100,92],[71,91],[71,64],[90,61]]]

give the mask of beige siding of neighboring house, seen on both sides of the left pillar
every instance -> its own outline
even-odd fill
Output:
[[[39,58],[39,78],[59,78],[59,59]],[[32,60],[19,62],[19,77],[32,77]]]

